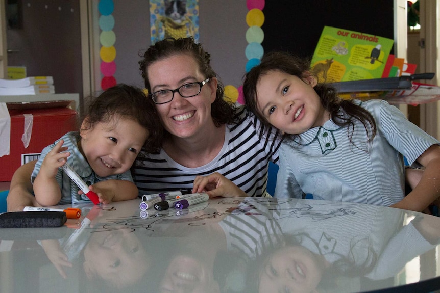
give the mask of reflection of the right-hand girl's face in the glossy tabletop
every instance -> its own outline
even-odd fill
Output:
[[[263,263],[260,293],[315,292],[320,283],[325,260],[302,246],[285,246]]]

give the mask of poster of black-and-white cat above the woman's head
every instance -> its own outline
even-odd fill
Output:
[[[199,40],[199,1],[150,0],[151,43],[192,36]]]

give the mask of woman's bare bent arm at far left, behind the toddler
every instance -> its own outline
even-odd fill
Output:
[[[19,167],[11,179],[8,197],[8,211],[22,211],[25,206],[40,206],[33,195],[31,175],[37,161]]]

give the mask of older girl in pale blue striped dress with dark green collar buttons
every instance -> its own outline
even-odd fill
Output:
[[[310,62],[270,52],[247,74],[247,106],[283,135],[276,197],[425,210],[440,195],[439,141],[384,100],[343,100]],[[408,163],[424,168],[405,196]]]

